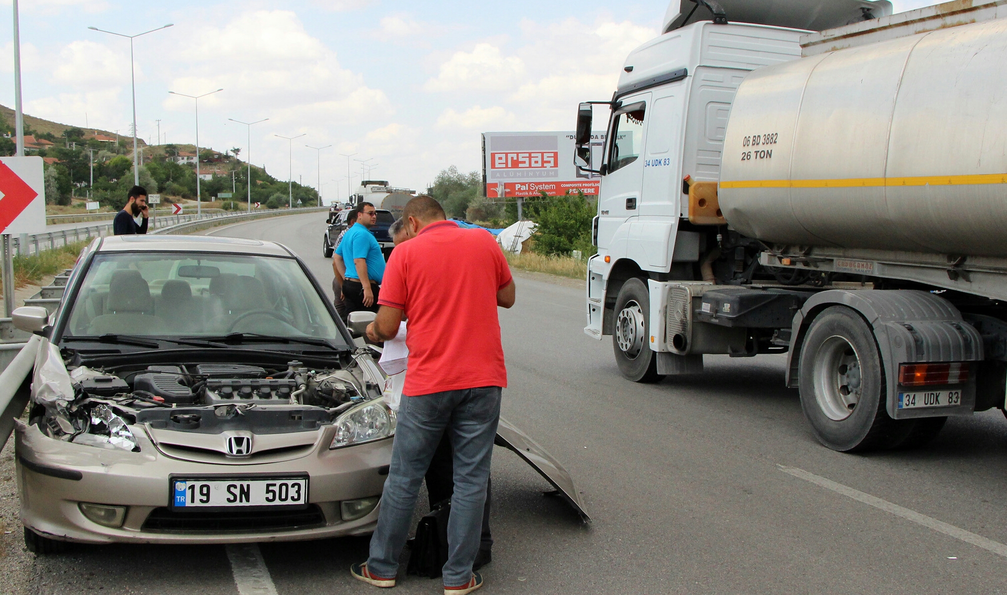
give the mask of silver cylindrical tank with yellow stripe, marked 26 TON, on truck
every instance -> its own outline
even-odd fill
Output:
[[[1007,256],[1007,19],[751,72],[719,187],[779,244]]]

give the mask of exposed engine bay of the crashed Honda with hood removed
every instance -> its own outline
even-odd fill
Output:
[[[129,429],[134,424],[203,434],[315,431],[354,405],[381,403],[383,387],[376,381],[383,379],[376,370],[359,358],[345,369],[312,369],[297,360],[285,368],[81,365],[69,370],[73,398],[36,401],[31,422],[56,440],[134,452],[139,451]],[[394,414],[388,416],[394,420]]]

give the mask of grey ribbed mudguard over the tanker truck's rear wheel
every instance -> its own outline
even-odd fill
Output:
[[[918,290],[829,290],[805,302],[794,317],[790,349],[786,360],[786,386],[797,388],[805,333],[817,312],[831,305],[844,305],[860,313],[871,326],[886,381],[887,412],[892,419],[971,415],[975,409],[974,375],[964,387],[961,405],[929,409],[904,409],[898,395],[903,363],[973,362],[984,358],[979,331],[962,317],[950,301]]]

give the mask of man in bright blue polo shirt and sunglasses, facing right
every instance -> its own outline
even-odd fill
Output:
[[[356,225],[346,230],[335,249],[346,265],[342,301],[346,304],[347,315],[358,310],[378,311],[379,286],[385,277],[385,257],[371,233],[378,221],[378,211],[370,202],[361,202],[357,209]]]

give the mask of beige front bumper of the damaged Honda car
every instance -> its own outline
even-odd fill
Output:
[[[339,502],[382,493],[392,456],[392,439],[329,450],[331,432],[310,454],[254,465],[208,464],[168,457],[138,428],[140,452],[105,450],[53,440],[37,427],[17,422],[15,452],[21,519],[50,539],[92,544],[212,544],[299,541],[368,535],[378,507],[363,518],[343,522]],[[240,531],[152,530],[152,511],[164,512],[171,494],[169,476],[306,473],[308,501],[324,520],[308,528]],[[112,529],[88,519],[80,502],[128,506],[123,527]],[[379,506],[380,507],[380,506]]]

